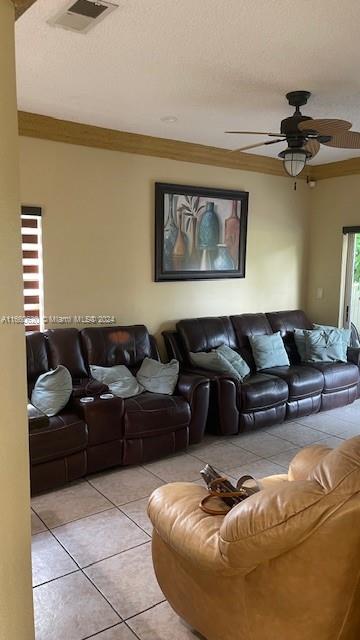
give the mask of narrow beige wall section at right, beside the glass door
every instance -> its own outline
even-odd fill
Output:
[[[321,180],[311,193],[307,309],[315,321],[339,317],[344,226],[360,225],[360,177]],[[318,299],[317,289],[323,289]]]

